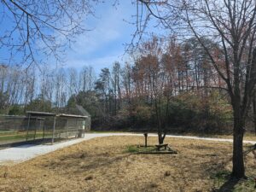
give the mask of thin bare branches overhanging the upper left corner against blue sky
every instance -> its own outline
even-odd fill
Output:
[[[2,0],[0,48],[11,62],[28,66],[44,57],[60,59],[73,37],[85,31],[84,15],[97,0]],[[9,25],[7,25],[9,23]],[[43,56],[42,56],[43,54]],[[21,59],[20,59],[21,58]]]

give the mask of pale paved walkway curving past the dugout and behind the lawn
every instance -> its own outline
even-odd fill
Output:
[[[132,133],[88,133],[85,134],[84,138],[68,140],[67,142],[55,143],[53,145],[49,144],[26,144],[14,148],[5,148],[0,150],[0,165],[12,165],[25,160],[30,160],[38,155],[48,154],[49,152],[55,151],[59,148],[65,148],[67,146],[73,145],[75,143],[80,143],[95,137],[108,137],[108,136],[143,136],[143,134],[132,134]],[[148,134],[149,137],[157,137],[155,134]],[[230,142],[232,139],[222,139],[222,138],[208,138],[208,137],[189,137],[189,136],[171,136],[166,137],[177,137],[184,139],[197,139],[197,140],[207,140],[215,142]],[[244,141],[244,143],[256,144],[256,141]]]

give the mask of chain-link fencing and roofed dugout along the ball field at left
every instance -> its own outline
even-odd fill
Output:
[[[84,137],[90,131],[90,117],[71,115],[0,116],[0,148],[26,142],[54,142],[58,139]]]

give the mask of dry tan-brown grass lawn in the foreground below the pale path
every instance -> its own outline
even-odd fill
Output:
[[[148,144],[157,142],[148,137]],[[129,154],[143,137],[102,137],[15,166],[0,166],[0,191],[212,191],[230,170],[231,144],[166,138],[178,154]],[[255,175],[253,155],[247,175]]]

